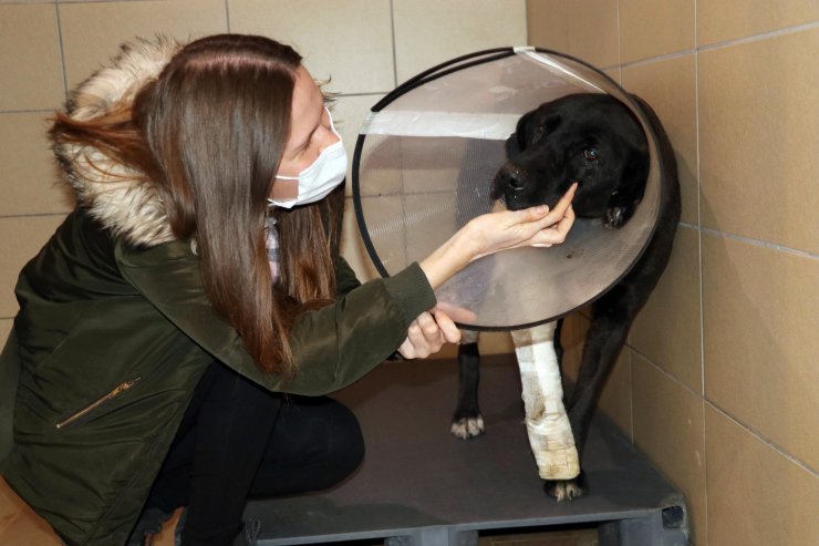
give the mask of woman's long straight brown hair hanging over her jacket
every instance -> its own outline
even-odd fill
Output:
[[[214,309],[262,370],[288,375],[296,371],[287,337],[294,315],[334,298],[340,214],[332,199],[276,212],[281,261],[272,287],[267,198],[300,62],[267,38],[207,37],[179,50],[129,112],[58,115],[52,127],[55,138],[95,146],[156,185],[174,236],[196,243]]]

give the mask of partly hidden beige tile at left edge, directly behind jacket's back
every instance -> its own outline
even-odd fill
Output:
[[[40,250],[45,241],[62,224],[63,216],[23,216],[15,218],[0,217],[0,318],[12,318],[17,315],[18,305],[14,298],[14,285],[20,269]],[[25,234],[13,237],[12,234]]]

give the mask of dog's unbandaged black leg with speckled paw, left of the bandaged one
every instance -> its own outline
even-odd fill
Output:
[[[480,382],[478,332],[462,330],[458,365],[458,405],[453,415],[450,431],[455,436],[467,440],[484,433],[484,418],[478,406],[478,383]]]

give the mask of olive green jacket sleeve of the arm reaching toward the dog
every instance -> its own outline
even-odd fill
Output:
[[[326,394],[361,378],[395,351],[415,317],[436,303],[417,264],[393,277],[356,285],[334,303],[297,320],[291,348],[299,372],[282,378],[262,372],[236,330],[214,311],[198,258],[187,245],[117,245],[116,258],[123,277],[215,359],[269,390],[294,394]]]

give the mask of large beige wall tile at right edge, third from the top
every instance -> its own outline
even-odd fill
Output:
[[[703,234],[705,393],[819,467],[819,259]]]

